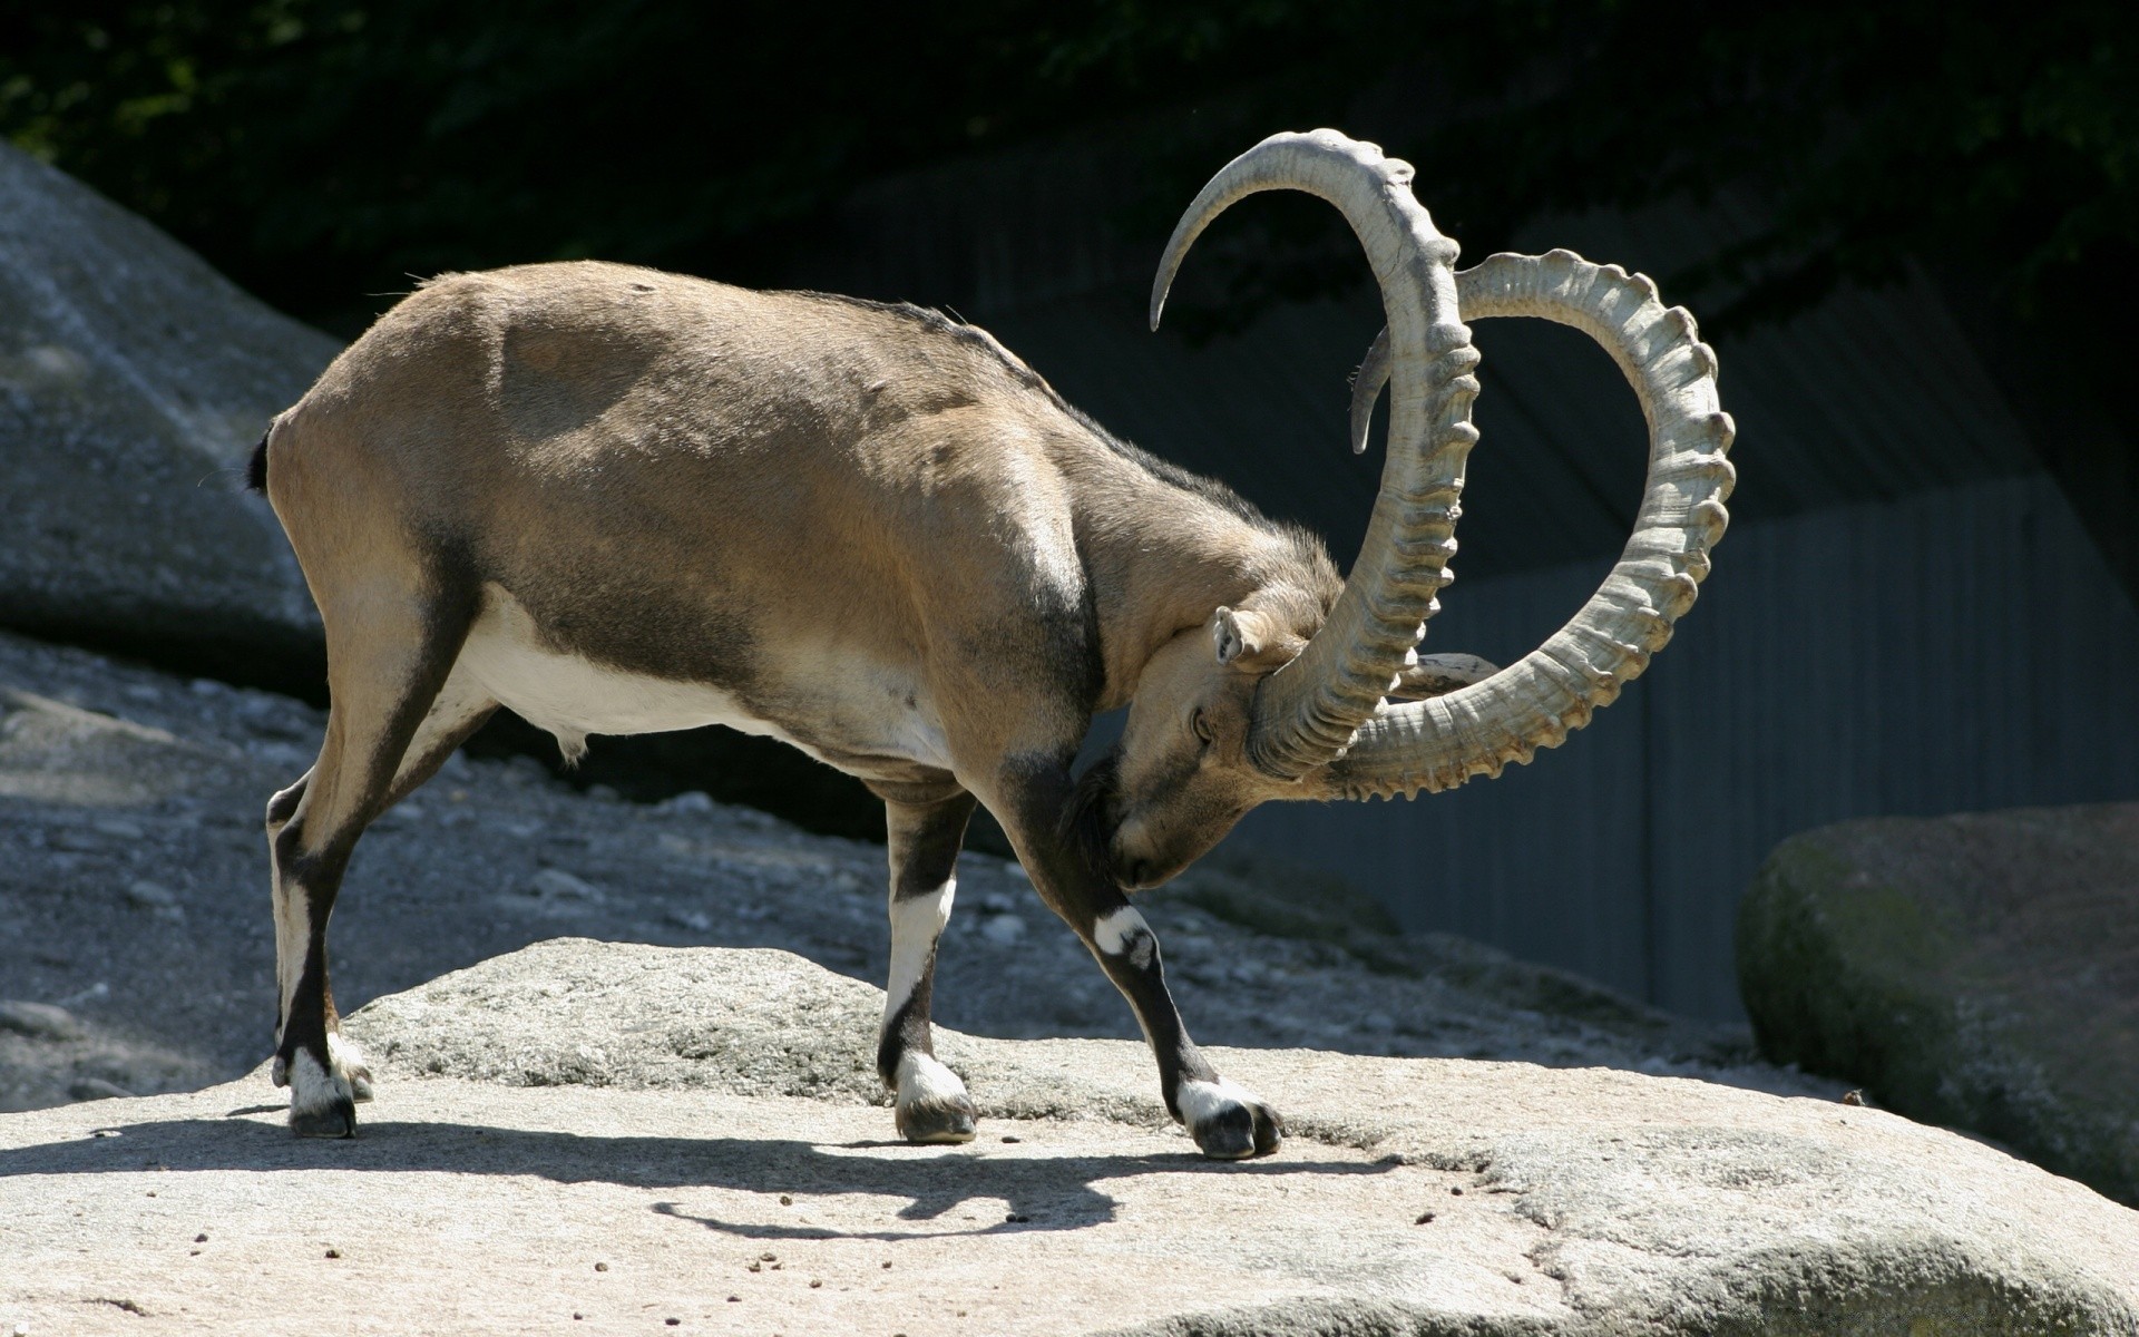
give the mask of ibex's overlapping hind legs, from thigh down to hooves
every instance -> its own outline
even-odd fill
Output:
[[[278,1031],[274,1074],[291,1087],[299,1136],[355,1134],[370,1091],[361,1059],[336,1031],[327,920],[364,828],[419,785],[494,704],[451,674],[468,618],[434,601],[364,601],[327,616],[334,706],[310,772],[267,804],[274,862]]]

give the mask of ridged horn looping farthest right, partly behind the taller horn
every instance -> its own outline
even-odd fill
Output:
[[[1416,796],[1529,762],[1589,723],[1671,640],[1709,573],[1709,548],[1730,522],[1735,428],[1718,404],[1715,353],[1683,308],[1664,308],[1647,276],[1591,265],[1572,250],[1495,255],[1457,276],[1465,319],[1544,317],[1583,329],[1611,353],[1649,421],[1649,477],[1619,563],[1551,640],[1484,682],[1386,706],[1318,785],[1318,798]],[[1371,357],[1369,357],[1371,368]],[[1367,370],[1354,385],[1373,411]],[[1303,794],[1305,798],[1307,794]]]

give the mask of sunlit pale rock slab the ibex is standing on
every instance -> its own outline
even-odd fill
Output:
[[[0,1322],[2139,1333],[2139,1213],[1895,1115],[1219,1050],[1292,1121],[1219,1166],[1142,1044],[945,1033],[984,1123],[922,1149],[864,1070],[881,1005],[785,952],[567,939],[351,1016],[381,1074],[353,1142],[289,1138],[259,1072],[0,1117]]]

